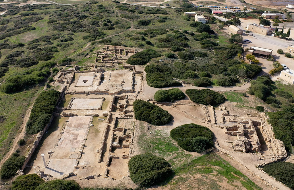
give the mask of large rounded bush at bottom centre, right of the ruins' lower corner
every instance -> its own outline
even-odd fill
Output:
[[[128,169],[132,181],[140,187],[158,184],[173,173],[165,159],[149,153],[133,156]]]

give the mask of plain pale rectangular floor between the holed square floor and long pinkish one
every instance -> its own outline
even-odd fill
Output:
[[[71,109],[101,109],[103,98],[85,99],[75,98]]]

